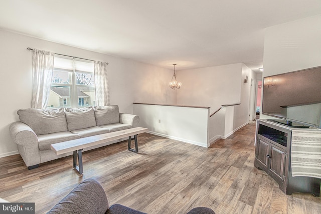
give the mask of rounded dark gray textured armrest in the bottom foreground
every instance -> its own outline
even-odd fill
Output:
[[[108,200],[103,187],[89,178],[78,184],[61,199],[47,214],[104,214],[108,209]]]

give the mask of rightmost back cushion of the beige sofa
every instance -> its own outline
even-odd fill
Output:
[[[119,123],[119,108],[113,106],[94,107],[97,126]]]

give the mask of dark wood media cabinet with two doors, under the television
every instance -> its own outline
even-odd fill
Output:
[[[320,178],[292,176],[292,131],[290,127],[257,120],[254,166],[269,174],[285,194],[306,192],[320,196]]]

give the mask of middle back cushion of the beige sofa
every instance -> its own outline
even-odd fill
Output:
[[[87,108],[65,108],[69,131],[96,126],[92,106]]]

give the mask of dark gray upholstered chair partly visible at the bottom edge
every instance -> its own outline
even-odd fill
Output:
[[[104,189],[96,180],[89,178],[82,181],[69,194],[61,199],[47,214],[146,214],[120,204],[109,207]],[[188,214],[215,214],[207,207],[196,207]]]

